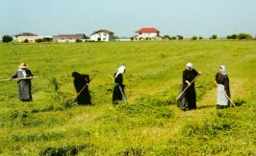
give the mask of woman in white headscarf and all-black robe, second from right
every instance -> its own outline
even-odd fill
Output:
[[[194,81],[192,80],[199,76],[201,72],[196,72],[195,69],[192,67],[192,63],[187,64],[187,69],[183,71],[183,76],[182,76],[182,89],[180,92],[184,91],[185,88],[189,85],[188,89],[185,91],[183,96],[180,98],[180,102],[182,102],[181,109],[196,109],[196,93],[195,93],[195,88],[194,88]],[[192,82],[192,83],[191,83]],[[185,98],[185,99],[184,99]],[[178,103],[179,105],[179,103]]]

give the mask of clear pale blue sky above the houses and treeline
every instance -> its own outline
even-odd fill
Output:
[[[256,36],[256,0],[0,0],[0,36],[106,29],[130,37],[144,27],[170,36]]]

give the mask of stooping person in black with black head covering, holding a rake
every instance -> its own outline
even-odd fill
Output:
[[[72,73],[73,83],[77,92],[77,104],[91,104],[88,84],[90,83],[89,75],[82,75],[77,72]]]

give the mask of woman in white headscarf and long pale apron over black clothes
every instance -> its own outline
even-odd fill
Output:
[[[215,82],[218,85],[217,109],[227,108],[230,104],[228,98],[230,99],[231,96],[229,90],[229,78],[224,65],[218,67]]]

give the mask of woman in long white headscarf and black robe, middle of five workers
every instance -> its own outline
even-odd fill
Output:
[[[126,100],[126,96],[124,93],[125,85],[123,84],[122,75],[125,73],[125,66],[121,65],[117,72],[115,73],[115,86],[113,91],[113,104],[117,104],[120,100]]]

